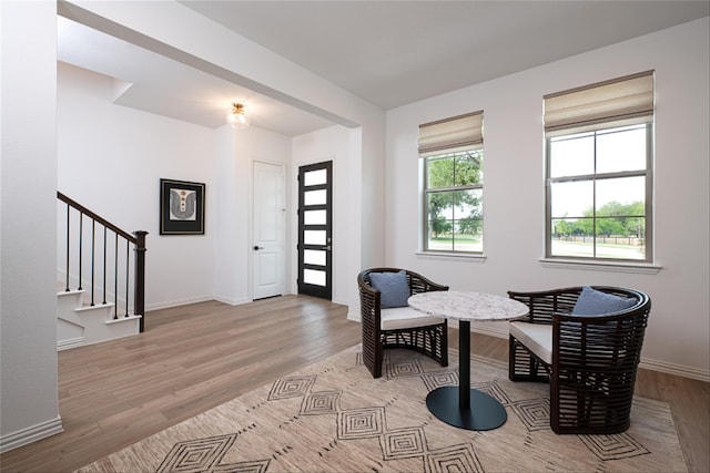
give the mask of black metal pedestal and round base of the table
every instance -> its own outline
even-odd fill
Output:
[[[508,419],[505,408],[485,392],[470,389],[470,322],[458,322],[458,387],[429,392],[426,407],[437,419],[466,430],[493,430]]]

